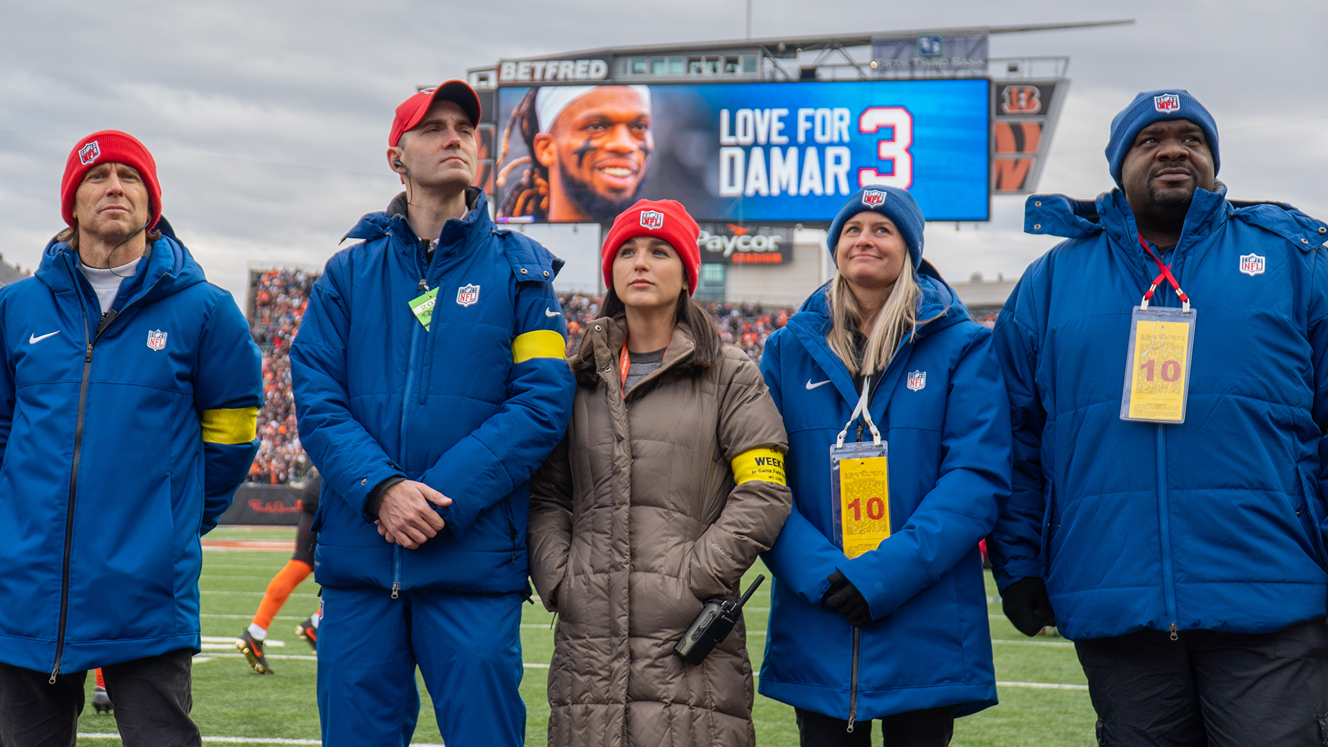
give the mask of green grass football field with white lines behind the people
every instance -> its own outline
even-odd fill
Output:
[[[293,529],[220,528],[208,540],[293,540]],[[230,744],[317,744],[319,711],[313,694],[316,661],[308,645],[295,635],[295,623],[317,609],[317,586],[312,577],[287,601],[268,631],[268,663],[272,675],[259,675],[248,669],[232,641],[248,626],[254,610],[272,574],[290,558],[288,552],[206,550],[199,585],[203,591],[203,653],[194,661],[194,720],[205,743]],[[764,568],[754,568],[750,584]],[[769,574],[766,574],[769,576]],[[744,585],[745,587],[745,585]],[[752,663],[761,665],[765,649],[766,614],[770,606],[769,582],[761,586],[746,607],[748,646]],[[988,574],[988,601],[996,586]],[[529,744],[544,744],[548,703],[544,683],[554,635],[551,614],[542,606],[525,605],[522,649],[526,677],[522,696],[526,699]],[[992,649],[996,655],[996,679],[1000,704],[980,714],[959,719],[952,744],[977,746],[1084,746],[1093,739],[1093,707],[1086,681],[1073,646],[1061,638],[1025,638],[1000,615],[1000,605],[988,606],[992,614]],[[283,646],[275,642],[284,642]],[[284,658],[290,657],[290,658]],[[110,747],[116,738],[116,719],[94,714],[90,706],[93,678],[88,678],[89,706],[78,720],[80,746]],[[416,744],[441,744],[433,706],[424,686]],[[754,707],[757,744],[789,746],[798,743],[793,708],[757,695]],[[880,744],[879,728],[874,744]],[[214,739],[208,739],[214,738]]]

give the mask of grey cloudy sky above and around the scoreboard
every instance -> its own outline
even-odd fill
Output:
[[[1068,54],[1072,88],[1040,191],[1093,197],[1112,116],[1145,89],[1187,88],[1220,129],[1238,199],[1328,217],[1328,3],[753,0],[753,36],[1134,19],[993,36],[993,57]],[[244,296],[250,262],[321,265],[400,189],[392,110],[417,85],[499,57],[740,39],[744,0],[671,3],[76,3],[0,0],[0,253],[32,267],[61,227],[74,141],[116,128],[153,150],[165,213],[208,278]],[[951,279],[1019,275],[1049,246],[1023,199],[989,223],[928,226]],[[559,253],[594,251],[560,230]]]

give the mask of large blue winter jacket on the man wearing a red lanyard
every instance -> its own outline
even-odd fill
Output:
[[[1224,194],[1195,190],[1166,257],[1197,316],[1179,425],[1121,420],[1130,311],[1158,274],[1125,195],[1028,198],[1024,229],[1069,239],[996,322],[1015,486],[988,549],[1001,589],[1046,578],[1069,638],[1324,617],[1328,226]],[[1163,284],[1151,304],[1179,300]]]

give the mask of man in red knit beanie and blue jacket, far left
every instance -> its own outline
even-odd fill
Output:
[[[0,288],[0,744],[73,744],[102,667],[126,746],[197,746],[199,536],[258,451],[260,356],[114,130],[73,148],[68,229]]]

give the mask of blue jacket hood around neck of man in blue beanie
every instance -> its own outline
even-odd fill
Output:
[[[1195,189],[1185,233],[1202,237],[1228,218],[1235,218],[1267,229],[1305,250],[1320,246],[1328,238],[1328,225],[1286,202],[1234,201],[1226,195],[1227,186],[1220,181],[1214,191]],[[1024,233],[1081,239],[1102,231],[1122,246],[1138,243],[1134,213],[1120,189],[1105,191],[1097,199],[1033,194],[1024,205]]]

